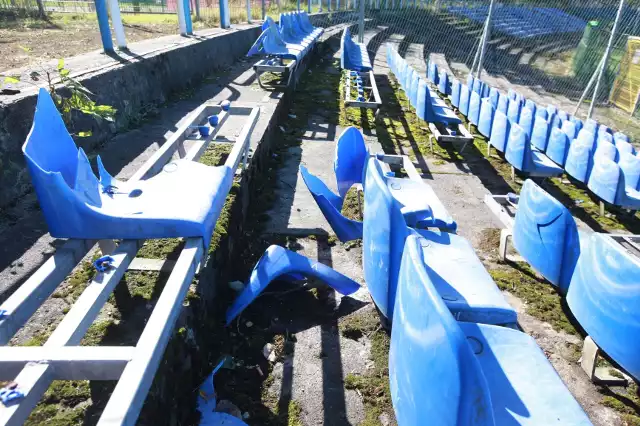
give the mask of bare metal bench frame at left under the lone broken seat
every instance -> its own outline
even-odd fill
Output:
[[[194,123],[217,114],[219,124],[204,139],[189,139]],[[235,141],[216,140],[229,115],[246,116],[246,122]],[[202,105],[129,180],[150,178],[170,162],[174,155],[196,161],[210,143],[233,142],[224,165],[236,171],[240,163],[246,167],[250,136],[260,109],[231,106],[224,111],[218,105]],[[190,149],[185,150],[189,141]],[[193,184],[198,184],[194,182]],[[220,190],[229,192],[231,184]],[[220,211],[214,214],[218,220]],[[131,270],[132,261],[144,241],[101,241],[105,254],[113,258],[112,267],[99,273],[73,304],[64,319],[41,347],[7,346],[42,303],[55,291],[76,265],[89,253],[96,241],[68,240],[1,306],[0,312],[0,380],[13,381],[22,397],[9,406],[0,406],[0,425],[23,424],[53,380],[118,380],[107,403],[100,425],[132,425],[147,396],[162,355],[182,308],[183,300],[196,271],[203,263],[205,246],[202,238],[187,238],[159,299],[133,346],[82,347],[80,341],[96,319],[103,305]],[[113,250],[113,251],[112,251]]]

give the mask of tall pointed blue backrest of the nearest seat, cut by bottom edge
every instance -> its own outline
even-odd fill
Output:
[[[407,238],[391,332],[389,382],[400,425],[493,426],[488,385],[458,323]]]

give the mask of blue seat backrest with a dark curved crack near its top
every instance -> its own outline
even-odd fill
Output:
[[[578,228],[569,210],[531,179],[520,191],[513,246],[533,269],[566,293],[580,256]]]

